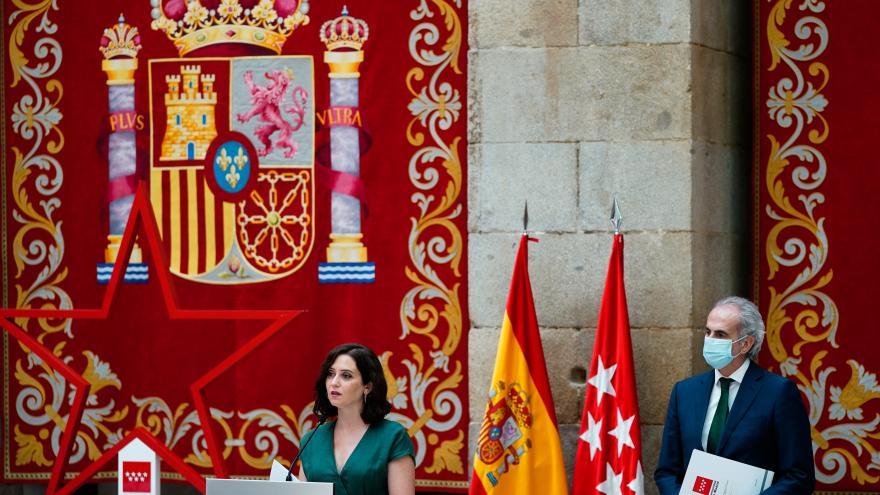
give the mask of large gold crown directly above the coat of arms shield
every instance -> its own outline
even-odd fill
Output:
[[[208,46],[241,44],[279,54],[293,31],[309,23],[308,0],[150,0],[153,29],[183,56]]]

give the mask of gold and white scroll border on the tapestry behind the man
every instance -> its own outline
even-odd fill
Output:
[[[826,292],[834,273],[827,219],[821,216],[822,186],[836,171],[829,169],[822,148],[830,132],[823,115],[829,104],[823,91],[831,77],[823,58],[829,43],[823,16],[830,3],[765,1],[771,4],[764,26],[770,51],[766,71],[777,74],[772,82],[768,77],[766,94],[760,93],[765,74],[756,57],[756,129],[765,111],[775,124],[766,135],[755,136],[756,164],[762,160],[757,143],[769,147],[763,176],[755,174],[755,190],[763,187],[769,196],[763,211],[760,195],[755,199],[756,225],[770,219],[759,261],[768,269],[767,347],[782,375],[793,379],[807,399],[816,480],[830,486],[854,480],[868,488],[880,481],[880,415],[867,417],[863,411],[869,401],[880,400],[877,373],[848,359],[847,377],[823,362],[839,349],[840,321]],[[758,22],[762,3],[756,2]],[[756,41],[760,53],[759,32]]]

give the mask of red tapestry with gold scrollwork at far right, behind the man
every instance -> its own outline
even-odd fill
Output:
[[[817,489],[880,488],[880,130],[870,0],[758,0],[755,291],[762,362],[810,417]],[[875,276],[876,275],[876,276]]]

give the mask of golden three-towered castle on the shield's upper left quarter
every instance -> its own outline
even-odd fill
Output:
[[[217,137],[215,75],[201,72],[199,65],[183,65],[180,74],[165,76],[167,120],[160,160],[202,159]]]

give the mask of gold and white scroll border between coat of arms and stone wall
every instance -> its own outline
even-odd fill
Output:
[[[443,0],[433,0],[429,5],[423,0],[410,13],[416,25],[410,32],[409,51],[416,66],[406,75],[406,85],[412,95],[407,108],[413,116],[407,125],[406,138],[417,148],[410,158],[408,172],[416,188],[411,200],[418,208],[418,216],[411,218],[410,264],[405,267],[405,274],[414,286],[401,301],[400,321],[401,339],[410,341],[412,358],[400,361],[408,377],[395,377],[389,372],[388,380],[389,400],[395,407],[391,417],[407,426],[416,444],[417,465],[421,465],[428,445],[432,445],[433,459],[428,472],[446,470],[455,474],[463,474],[463,467],[449,457],[460,455],[463,443],[453,440],[439,447],[436,444],[439,442],[437,433],[456,428],[458,437],[464,437],[458,426],[463,414],[462,401],[455,391],[463,379],[462,364],[456,361],[450,372],[450,357],[462,340],[459,280],[463,236],[454,223],[463,211],[461,138],[456,136],[447,144],[441,135],[461,117],[461,95],[449,82],[454,77],[449,69],[454,74],[462,73],[458,61],[463,36],[460,8],[459,2],[453,6]],[[443,35],[440,24],[434,21],[442,21]],[[434,50],[438,44],[439,53]],[[426,69],[431,71],[429,75]],[[419,83],[421,87],[417,87]],[[430,137],[427,143],[426,132]],[[438,186],[442,191],[439,198],[432,194]],[[423,341],[418,337],[426,338],[430,347],[423,350],[414,343]],[[426,361],[425,351],[430,361]],[[390,357],[391,353],[383,355],[386,363]],[[391,369],[388,364],[387,369]],[[426,435],[425,430],[431,433]]]

